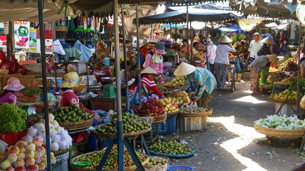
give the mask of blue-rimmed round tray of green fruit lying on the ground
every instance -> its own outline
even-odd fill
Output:
[[[193,147],[178,143],[176,140],[169,142],[161,142],[160,140],[157,140],[157,142],[150,145],[148,149],[151,155],[167,156],[170,158],[185,158],[190,157],[195,153]]]

